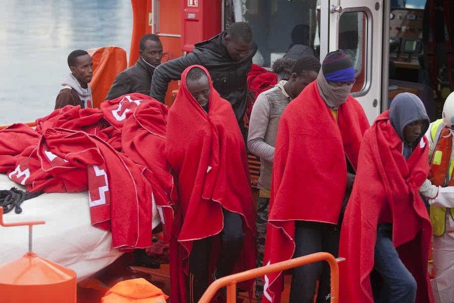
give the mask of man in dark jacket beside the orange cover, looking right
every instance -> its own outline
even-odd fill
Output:
[[[144,35],[139,42],[139,60],[130,68],[119,73],[110,86],[106,100],[133,92],[150,94],[150,83],[154,69],[161,64],[162,43],[153,34]]]

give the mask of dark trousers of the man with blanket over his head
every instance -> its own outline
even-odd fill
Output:
[[[237,213],[222,209],[224,228],[221,232],[221,253],[217,260],[216,276],[230,275],[243,248],[243,222]],[[194,241],[189,255],[189,295],[197,302],[208,287],[208,271],[213,237]]]

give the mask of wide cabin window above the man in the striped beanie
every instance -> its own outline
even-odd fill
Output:
[[[263,66],[295,52],[319,58],[317,0],[224,0],[224,22],[245,21],[252,28]]]

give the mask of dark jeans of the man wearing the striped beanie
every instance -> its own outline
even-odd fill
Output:
[[[294,258],[326,251],[337,258],[339,251],[338,229],[333,228],[295,228],[295,254]],[[310,263],[293,269],[292,283],[290,286],[290,303],[313,303],[317,279],[319,287],[318,302],[330,301],[329,265],[325,261]]]

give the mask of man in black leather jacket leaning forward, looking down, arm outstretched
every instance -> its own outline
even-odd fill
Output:
[[[156,68],[151,80],[150,96],[164,102],[168,82],[179,80],[181,73],[191,65],[204,66],[211,75],[213,87],[227,99],[244,133],[243,116],[246,111],[247,77],[257,43],[245,22],[232,23],[228,30],[209,40],[195,44],[192,53],[167,61]]]

